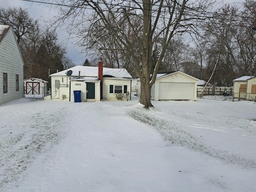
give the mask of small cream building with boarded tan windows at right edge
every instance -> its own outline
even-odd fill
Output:
[[[256,77],[242,76],[234,79],[234,98],[255,100],[256,97]]]

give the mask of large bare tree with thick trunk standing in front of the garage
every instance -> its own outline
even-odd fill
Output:
[[[195,32],[195,21],[204,18],[203,15],[212,6],[213,1],[59,0],[58,2],[60,5],[65,4],[59,6],[62,15],[58,20],[59,24],[69,22],[70,32],[78,30],[78,34],[83,34],[82,40],[90,37],[92,26],[95,24],[112,36],[138,73],[142,85],[140,103],[148,108],[152,106],[151,87],[173,36],[184,32]],[[140,21],[138,27],[130,20],[134,17]],[[129,25],[122,28],[120,26],[124,21]],[[136,34],[133,37],[138,44],[137,47],[132,45],[134,41],[129,36],[129,31]],[[157,46],[159,38],[162,38],[161,46]],[[152,52],[156,46],[161,47],[161,50],[151,74]]]

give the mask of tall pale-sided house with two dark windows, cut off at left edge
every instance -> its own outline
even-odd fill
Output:
[[[12,26],[0,25],[0,104],[23,97],[23,66]]]

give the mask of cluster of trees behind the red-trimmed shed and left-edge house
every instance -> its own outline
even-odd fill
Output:
[[[11,25],[14,30],[24,60],[24,79],[49,81],[49,72],[62,71],[67,63],[74,66],[65,56],[66,49],[58,42],[56,30],[41,26],[27,10],[0,7],[0,24]]]

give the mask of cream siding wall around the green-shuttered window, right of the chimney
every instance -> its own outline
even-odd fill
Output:
[[[110,93],[110,85],[122,86],[122,93],[124,93],[124,85],[127,85],[127,91],[131,94],[131,80],[120,78],[103,78],[102,97],[106,100],[116,100],[115,93]],[[125,100],[125,98],[123,99]],[[130,96],[129,96],[130,100]]]

